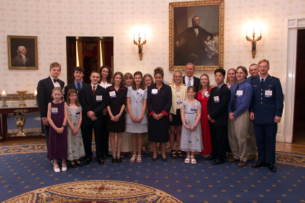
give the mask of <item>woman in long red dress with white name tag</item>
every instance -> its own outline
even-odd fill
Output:
[[[200,153],[203,157],[208,157],[212,151],[211,147],[211,137],[209,132],[209,124],[207,120],[207,100],[210,94],[210,84],[208,75],[202,74],[200,76],[200,84],[197,93],[197,100],[201,104],[201,118],[200,118],[200,125],[201,125],[201,133],[202,133],[202,144],[203,144],[203,151]]]

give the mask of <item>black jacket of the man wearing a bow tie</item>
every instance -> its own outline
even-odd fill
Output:
[[[63,89],[65,82],[59,80],[59,85]],[[53,82],[50,77],[38,82],[37,85],[37,105],[40,113],[40,118],[46,118],[48,113],[48,104],[52,99],[52,90],[54,89]]]

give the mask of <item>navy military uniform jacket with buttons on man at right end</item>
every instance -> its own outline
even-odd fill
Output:
[[[275,116],[282,117],[283,113],[283,90],[280,79],[267,76],[261,85],[259,77],[251,80],[253,95],[250,104],[250,112],[254,112],[254,123],[275,123]],[[272,96],[265,97],[265,91],[271,90]]]

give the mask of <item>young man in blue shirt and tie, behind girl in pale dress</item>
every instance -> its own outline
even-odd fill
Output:
[[[84,76],[85,70],[83,67],[75,67],[73,70],[74,82],[68,84],[65,87],[65,100],[67,100],[68,90],[76,89],[78,91],[78,101],[81,103],[81,91],[84,86],[88,85],[87,83],[82,82],[82,77]]]

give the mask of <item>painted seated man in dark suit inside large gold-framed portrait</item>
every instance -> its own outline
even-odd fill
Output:
[[[198,16],[192,18],[192,27],[182,31],[175,39],[175,58],[174,64],[181,65],[192,62],[196,65],[204,65],[208,61],[205,51],[207,36],[212,40],[212,33],[199,26]],[[184,42],[182,44],[182,42]]]

